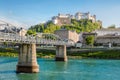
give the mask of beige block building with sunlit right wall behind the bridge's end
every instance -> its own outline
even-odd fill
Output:
[[[61,29],[56,30],[54,33],[64,40],[72,40],[75,43],[79,40],[79,35],[76,31]]]

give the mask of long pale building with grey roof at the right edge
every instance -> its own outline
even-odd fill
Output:
[[[95,30],[97,37],[95,43],[101,46],[119,46],[120,45],[120,29],[99,29]]]

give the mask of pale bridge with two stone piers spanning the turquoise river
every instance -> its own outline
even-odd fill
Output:
[[[19,46],[18,73],[37,73],[39,65],[36,59],[36,44],[50,44],[56,46],[56,61],[67,61],[66,46],[73,46],[74,43],[65,42],[55,34],[41,33],[38,36],[19,36],[17,33],[0,32],[0,42],[15,43]]]

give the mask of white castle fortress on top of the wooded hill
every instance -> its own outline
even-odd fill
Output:
[[[71,24],[71,19],[81,20],[88,19],[92,22],[96,22],[96,15],[90,15],[89,12],[81,13],[77,12],[75,15],[71,14],[58,14],[58,16],[52,17],[52,22],[57,25]]]

